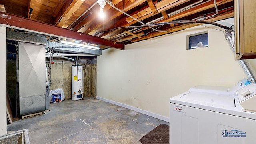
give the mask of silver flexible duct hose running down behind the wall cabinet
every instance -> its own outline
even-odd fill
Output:
[[[235,43],[234,43],[234,40],[232,39],[232,32],[233,32],[232,30],[225,30],[224,36],[228,44],[230,45],[232,52],[235,53]],[[243,68],[248,79],[256,83],[256,80],[255,80],[256,73],[255,73],[255,70],[252,68],[252,65],[250,64],[250,62],[248,60],[237,60],[237,61],[239,62],[240,66]]]

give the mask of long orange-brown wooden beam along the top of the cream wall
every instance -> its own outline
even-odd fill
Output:
[[[221,15],[214,16],[213,18],[210,18],[207,21],[215,22],[215,21],[226,19],[226,18],[232,18],[232,17],[234,17],[234,10],[223,13]],[[198,26],[198,25],[202,25],[202,24],[182,24],[182,25],[179,25],[179,26],[175,26],[174,28],[165,29],[165,31],[177,32],[177,31],[184,30],[184,29],[191,28],[191,27]],[[166,32],[153,32],[152,34],[144,36],[143,38],[137,38],[137,39],[131,40],[131,42],[138,42],[138,41],[141,41],[141,40],[154,38],[156,36],[162,36],[164,34],[167,34],[167,33]]]

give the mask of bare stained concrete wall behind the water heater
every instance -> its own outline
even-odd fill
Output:
[[[62,88],[65,94],[65,99],[71,98],[71,66],[74,65],[71,61],[54,60],[51,65],[51,86],[50,89]],[[96,62],[82,60],[80,65],[83,66],[84,72],[84,93],[83,96],[96,97]]]

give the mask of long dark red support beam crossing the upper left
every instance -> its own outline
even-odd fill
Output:
[[[38,34],[62,37],[72,40],[81,40],[83,42],[88,42],[90,44],[104,45],[107,47],[117,48],[124,50],[124,44],[116,43],[112,40],[105,40],[103,38],[98,38],[96,36],[91,36],[88,34],[83,34],[80,32],[75,32],[65,28],[60,28],[51,24],[46,24],[42,22],[36,22],[34,20],[29,20],[20,16],[15,16],[13,14],[8,14],[5,12],[0,12],[4,15],[4,18],[0,18],[0,26],[6,26],[8,28],[16,28],[20,30],[26,30],[30,32],[36,32]]]

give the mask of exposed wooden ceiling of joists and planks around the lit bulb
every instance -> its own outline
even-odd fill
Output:
[[[195,1],[199,0],[110,0],[115,7],[124,12],[134,16],[138,20],[147,22],[170,22],[173,20],[184,20],[197,18],[197,14],[211,15],[214,14],[213,0],[202,0],[200,5],[197,4],[194,8],[178,12],[178,14],[171,15],[176,10],[185,8]],[[225,9],[225,6],[231,6],[233,0],[216,0],[218,8]],[[228,3],[228,4],[227,4]],[[71,29],[73,31],[83,32],[84,34],[94,35],[96,32],[109,30],[121,26],[135,26],[142,25],[136,20],[126,16],[122,12],[112,8],[109,4],[104,7],[106,18],[104,22],[98,17],[100,7],[97,0],[0,0],[6,8],[6,12],[31,18],[40,22],[49,24],[56,24],[56,26]],[[222,6],[224,5],[224,6]],[[33,8],[32,15],[29,14],[29,8]],[[90,9],[89,9],[90,8]],[[230,11],[230,9],[228,9]],[[86,13],[84,13],[86,12]],[[83,15],[82,15],[83,14]],[[168,16],[169,14],[169,16]],[[81,16],[81,17],[80,17]],[[215,17],[225,19],[229,16],[218,14]],[[80,17],[78,20],[77,18]],[[161,18],[160,18],[161,17]],[[157,20],[156,20],[157,19]],[[170,24],[159,28],[159,30],[175,31],[182,28],[194,26],[193,24]],[[104,35],[97,33],[105,39],[114,39],[115,42],[123,42],[128,44],[130,42],[137,42],[147,38],[160,36],[161,32],[151,32],[149,28],[141,28],[136,32],[132,32],[133,36],[126,34],[128,29],[117,29],[112,32],[105,32]],[[126,33],[124,33],[124,31]],[[149,33],[150,32],[150,33]],[[145,34],[144,34],[145,33]],[[140,38],[136,38],[140,36]]]

